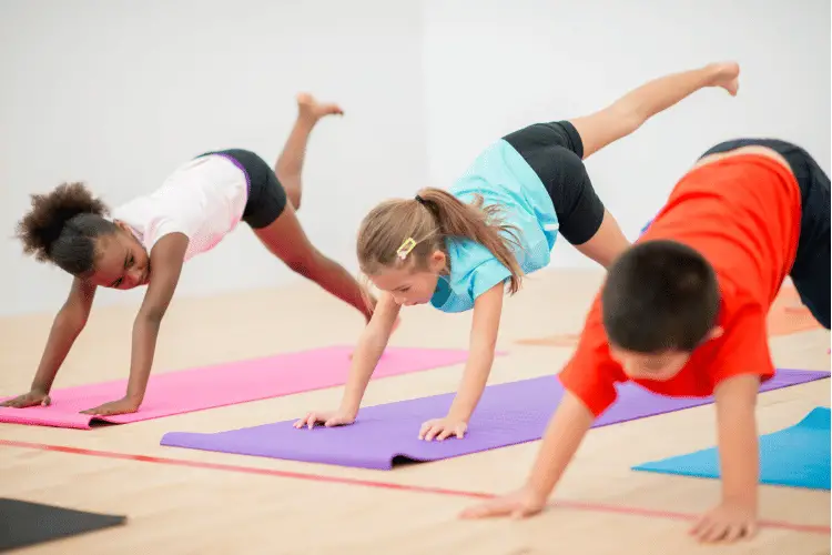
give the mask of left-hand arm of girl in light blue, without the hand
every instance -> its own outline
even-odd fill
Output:
[[[349,376],[341,403],[343,412],[352,415],[358,414],[364,392],[367,390],[369,379],[378,365],[378,360],[387,347],[399,310],[400,306],[393,299],[393,295],[383,293],[378,299],[369,324],[364,327],[353,353],[353,363],[349,367]]]

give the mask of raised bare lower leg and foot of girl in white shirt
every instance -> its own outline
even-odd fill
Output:
[[[344,111],[337,104],[323,104],[315,100],[312,94],[302,92],[296,97],[297,100],[297,119],[292,131],[283,147],[283,152],[277,159],[274,172],[277,174],[290,202],[298,210],[301,208],[301,193],[303,182],[303,162],[306,155],[306,144],[310,141],[310,133],[315,124],[325,115],[343,115]]]

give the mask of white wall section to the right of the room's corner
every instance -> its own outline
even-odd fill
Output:
[[[593,112],[647,80],[723,59],[742,65],[737,98],[700,91],[587,161],[625,233],[635,239],[693,160],[726,139],[791,140],[830,171],[829,0],[425,6],[434,185],[450,183],[483,147],[515,129]],[[562,240],[551,265],[595,266]]]

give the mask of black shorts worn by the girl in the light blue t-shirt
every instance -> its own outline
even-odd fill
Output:
[[[584,141],[568,121],[535,123],[503,138],[544,182],[555,204],[559,233],[586,243],[603,221],[603,203],[584,167]]]

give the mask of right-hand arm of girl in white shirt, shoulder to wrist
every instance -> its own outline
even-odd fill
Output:
[[[189,239],[170,233],[156,242],[150,253],[150,285],[133,323],[133,349],[126,397],[136,406],[144,400],[162,317],[176,290]]]

